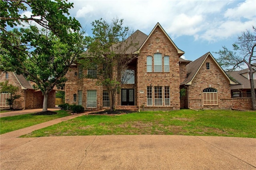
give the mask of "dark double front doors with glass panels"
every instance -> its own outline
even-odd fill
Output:
[[[134,89],[123,88],[121,90],[121,105],[122,106],[134,106]]]

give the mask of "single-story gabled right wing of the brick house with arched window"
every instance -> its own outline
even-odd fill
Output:
[[[230,80],[210,52],[186,65],[187,77],[180,84],[187,90],[187,96],[182,98],[183,106],[194,109],[231,108],[230,85],[236,82]]]

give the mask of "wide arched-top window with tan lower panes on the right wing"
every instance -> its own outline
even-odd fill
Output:
[[[204,105],[218,105],[218,91],[215,88],[203,90]]]

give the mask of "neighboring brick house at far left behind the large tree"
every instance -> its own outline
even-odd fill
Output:
[[[44,96],[40,90],[34,90],[30,82],[26,80],[23,75],[18,75],[14,72],[4,72],[1,70],[0,82],[8,81],[8,84],[12,84],[19,88],[19,94],[21,97],[14,101],[14,109],[38,109],[42,108]],[[9,108],[6,104],[6,98],[9,94],[0,94],[0,108]],[[55,90],[50,92],[48,97],[48,107],[55,106]]]

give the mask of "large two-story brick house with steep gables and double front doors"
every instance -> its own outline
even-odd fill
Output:
[[[159,23],[149,35],[139,30],[135,33],[138,49],[130,49],[130,52],[136,58],[126,70],[130,78],[120,86],[116,109],[233,107],[230,85],[236,82],[230,80],[211,53],[194,62],[180,58],[184,51],[178,49]],[[109,108],[107,90],[98,86],[95,79],[82,74],[94,75],[96,70],[83,70],[76,64],[70,67],[66,74],[65,102],[86,109]],[[186,89],[186,96],[180,99],[181,88]]]

